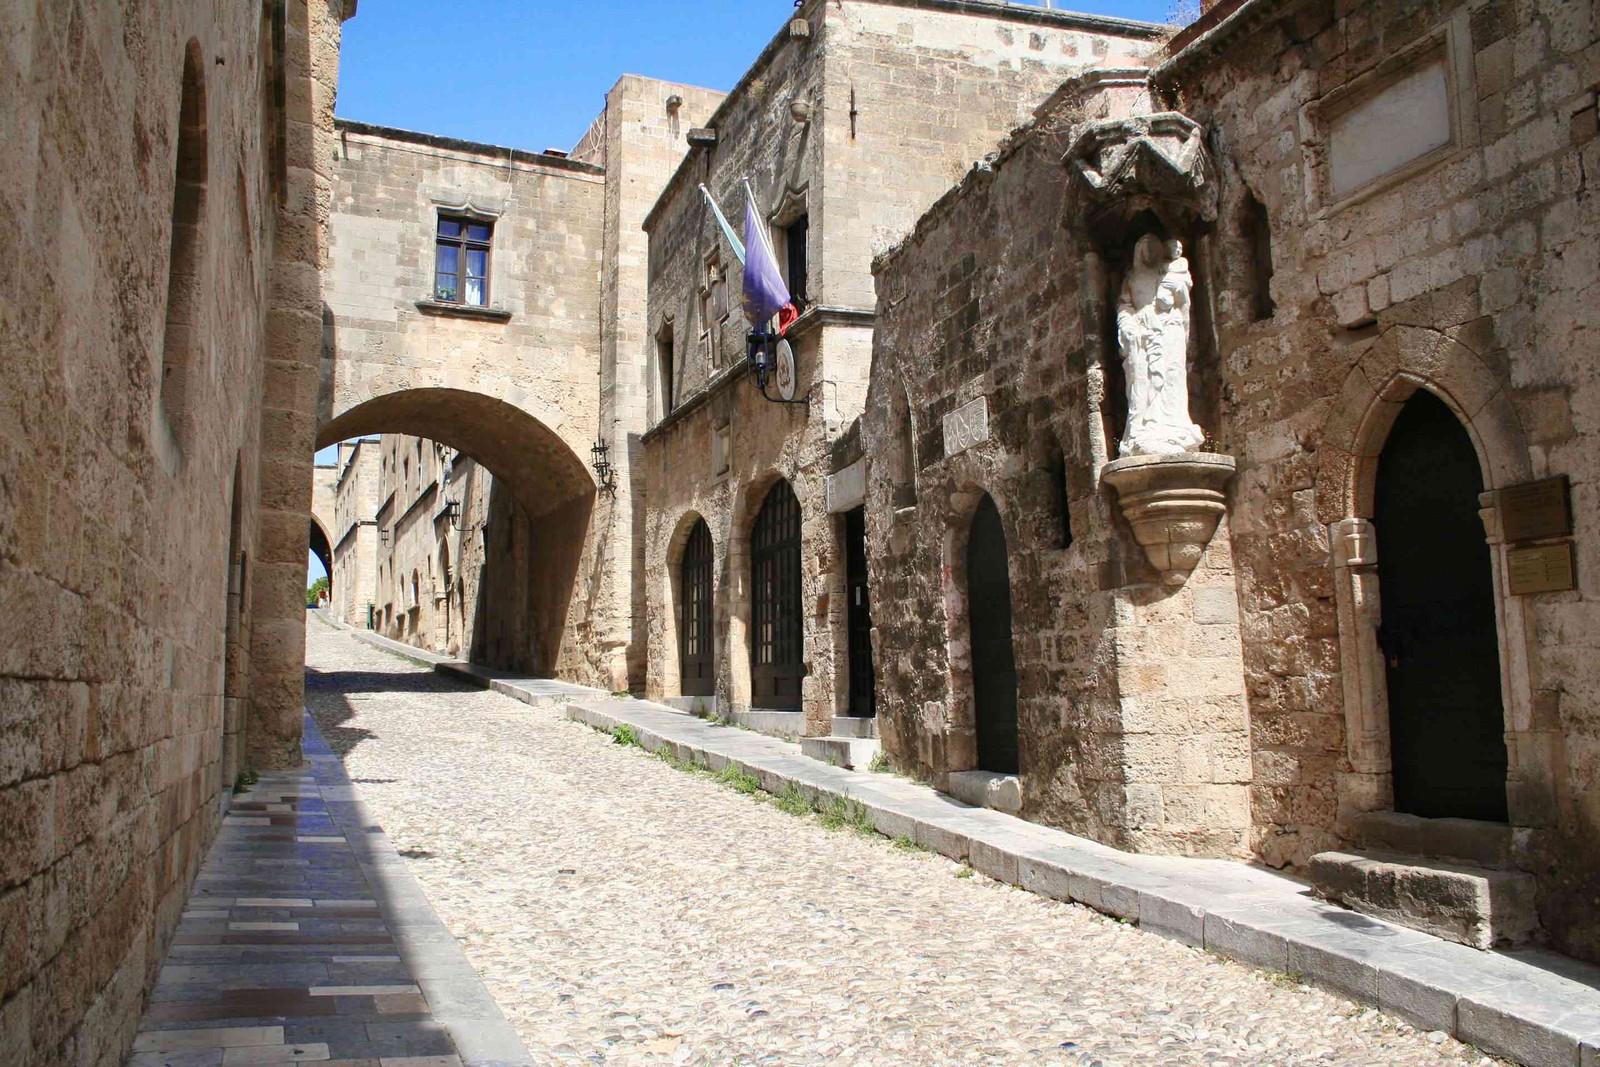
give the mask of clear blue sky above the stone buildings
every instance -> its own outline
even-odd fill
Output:
[[[1035,6],[1046,6],[1038,3]],[[1051,6],[1166,21],[1171,0]],[[344,24],[344,118],[571,149],[622,74],[730,90],[794,11],[792,0],[362,0]]]

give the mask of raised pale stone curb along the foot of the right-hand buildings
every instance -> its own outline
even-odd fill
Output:
[[[493,688],[515,696],[517,683],[498,678]],[[1326,904],[1293,878],[1240,862],[1120,853],[659,704],[579,699],[566,717],[598,729],[627,723],[650,752],[714,771],[733,763],[771,793],[794,785],[819,805],[853,798],[880,833],[910,837],[998,881],[1298,974],[1528,1067],[1600,1067],[1600,968],[1538,949],[1467,949]]]

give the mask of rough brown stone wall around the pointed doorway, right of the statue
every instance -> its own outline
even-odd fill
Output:
[[[1576,590],[1509,597],[1504,547],[1494,553],[1510,819],[1526,829],[1522,862],[1541,873],[1546,925],[1590,957],[1600,873],[1574,857],[1595,854],[1600,830],[1600,734],[1587,712],[1600,669],[1582,637],[1600,550],[1589,536],[1600,408],[1582,366],[1600,309],[1586,178],[1600,163],[1597,37],[1587,2],[1256,5],[1248,26],[1202,37],[1162,72],[1168,102],[1214,131],[1226,162],[1221,438],[1240,461],[1254,846],[1269,862],[1301,862],[1386,806],[1382,753],[1346,726],[1374,665],[1341,640],[1347,571],[1330,566],[1330,525],[1365,514],[1382,443],[1370,427],[1421,386],[1469,429],[1486,488],[1558,474],[1573,483]],[[1358,114],[1341,109],[1429,64],[1448,70],[1451,142],[1342,190],[1362,142],[1344,158],[1330,147],[1341,115]],[[1344,126],[1366,152],[1387,134]],[[1270,219],[1274,310],[1261,320],[1238,254],[1246,197]]]

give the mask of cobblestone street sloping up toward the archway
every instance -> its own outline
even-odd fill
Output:
[[[1475,1064],[312,621],[307,702],[536,1062]]]

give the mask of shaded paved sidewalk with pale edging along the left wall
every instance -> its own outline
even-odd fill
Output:
[[[234,798],[128,1067],[531,1064],[339,760]]]

